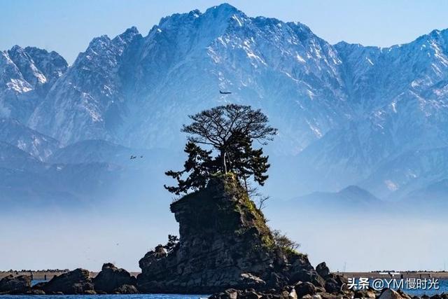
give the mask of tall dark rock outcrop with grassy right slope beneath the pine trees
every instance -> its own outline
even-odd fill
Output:
[[[318,277],[306,256],[276,246],[262,212],[232,176],[211,180],[172,203],[171,211],[180,241],[140,260],[137,286],[144,293],[262,289]]]

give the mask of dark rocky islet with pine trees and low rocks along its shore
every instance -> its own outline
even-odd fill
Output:
[[[276,135],[251,106],[229,104],[190,116],[184,125],[188,155],[181,171],[168,171],[179,197],[170,210],[179,237],[169,235],[139,261],[141,274],[106,263],[96,277],[76,269],[31,286],[29,275],[0,280],[0,294],[204,293],[211,299],[409,299],[401,291],[353,291],[325,263],[313,267],[297,244],[267,225],[254,184],[268,179],[265,145]],[[255,193],[256,194],[256,193]],[[252,195],[252,197],[251,197]],[[262,203],[262,202],[261,202]],[[442,295],[438,298],[447,298]]]

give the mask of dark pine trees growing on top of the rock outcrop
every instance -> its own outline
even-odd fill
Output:
[[[277,130],[268,125],[268,118],[260,109],[228,104],[189,118],[192,123],[182,128],[182,132],[189,134],[184,149],[188,159],[183,170],[165,173],[178,182],[178,186],[165,186],[167,190],[177,195],[199,190],[207,186],[212,174],[219,172],[232,172],[244,183],[252,178],[260,185],[264,184],[270,166],[268,156],[263,155],[262,148],[253,148],[253,141],[265,145]],[[201,148],[201,145],[210,149]]]

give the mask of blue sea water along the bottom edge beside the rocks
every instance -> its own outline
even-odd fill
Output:
[[[38,282],[38,281],[33,281]],[[409,295],[434,295],[436,293],[448,293],[448,279],[439,279],[439,289],[431,290],[406,290]],[[0,299],[200,299],[208,295],[176,295],[176,294],[139,294],[139,295],[0,295]]]

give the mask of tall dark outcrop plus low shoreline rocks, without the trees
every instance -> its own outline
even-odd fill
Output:
[[[401,291],[352,291],[348,279],[325,263],[314,268],[306,254],[279,242],[232,175],[171,204],[180,238],[169,236],[141,258],[132,276],[106,263],[96,277],[76,269],[31,286],[31,276],[0,280],[0,294],[94,295],[135,293],[210,294],[210,299],[410,299]],[[448,294],[431,299],[448,299]]]

